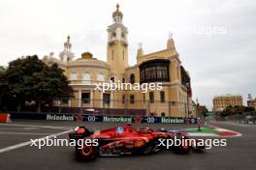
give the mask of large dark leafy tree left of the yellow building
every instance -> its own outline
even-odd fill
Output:
[[[67,77],[56,64],[48,67],[36,55],[19,58],[10,62],[0,76],[0,97],[5,100],[4,103],[0,100],[0,106],[15,103],[19,111],[25,101],[35,101],[40,112],[43,102],[72,97],[73,90],[68,84]]]

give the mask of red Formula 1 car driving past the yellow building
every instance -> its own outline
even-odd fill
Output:
[[[188,139],[185,132],[174,132],[164,128],[133,128],[131,125],[98,131],[80,127],[75,128],[69,137],[70,140],[78,142],[75,154],[80,161],[94,160],[97,156],[150,155],[167,149],[179,154],[187,154],[190,149],[196,152],[205,149],[204,146],[197,144],[197,140],[184,140]],[[173,139],[185,142],[167,147],[170,142],[168,140]]]

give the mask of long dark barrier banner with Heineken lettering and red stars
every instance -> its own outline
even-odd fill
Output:
[[[196,118],[152,117],[152,116],[105,116],[84,114],[37,114],[11,113],[12,119],[31,119],[48,121],[77,121],[105,123],[147,123],[147,124],[197,124]]]

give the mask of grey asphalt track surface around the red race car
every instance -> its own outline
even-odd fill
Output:
[[[0,169],[13,170],[254,170],[256,169],[256,126],[228,123],[208,123],[219,128],[228,128],[242,134],[227,138],[226,147],[213,147],[204,153],[191,152],[176,155],[163,152],[153,156],[98,157],[93,162],[77,162],[73,147],[45,147],[39,150],[29,145],[30,139],[65,132],[70,128],[85,125],[88,128],[112,128],[113,123],[76,123],[48,121],[14,121],[10,125],[0,124]],[[195,125],[142,124],[136,127],[150,128],[195,128]],[[58,138],[67,138],[68,134]],[[16,144],[21,144],[17,146]],[[10,146],[16,146],[11,148]]]

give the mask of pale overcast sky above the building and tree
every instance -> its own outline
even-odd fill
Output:
[[[208,108],[216,95],[256,97],[256,1],[253,0],[0,0],[0,65],[22,55],[58,56],[67,35],[73,52],[106,61],[107,26],[116,3],[129,31],[129,64],[166,47],[174,33],[193,98]]]

